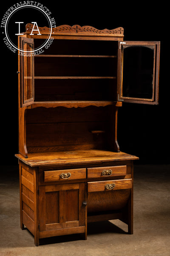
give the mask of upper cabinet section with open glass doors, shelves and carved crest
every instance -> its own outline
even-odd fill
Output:
[[[20,37],[20,106],[158,104],[160,42],[123,41],[123,28],[26,25]],[[40,32],[40,34],[39,34]]]

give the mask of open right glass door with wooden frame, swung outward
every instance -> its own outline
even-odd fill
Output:
[[[118,101],[158,104],[160,42],[120,41]]]

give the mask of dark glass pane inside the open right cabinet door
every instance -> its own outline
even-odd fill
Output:
[[[123,46],[122,96],[153,98],[154,47]]]

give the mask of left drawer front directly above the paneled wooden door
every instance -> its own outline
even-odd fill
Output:
[[[44,181],[79,180],[86,178],[86,169],[44,171]]]

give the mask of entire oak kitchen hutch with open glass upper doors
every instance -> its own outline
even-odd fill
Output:
[[[20,49],[47,39],[47,27]],[[58,26],[40,55],[19,55],[20,224],[39,239],[119,219],[133,233],[133,160],[117,142],[122,102],[158,104],[159,47],[122,27]]]

